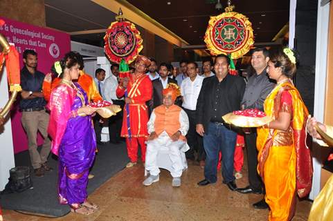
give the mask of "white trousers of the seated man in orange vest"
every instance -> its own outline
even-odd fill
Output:
[[[181,157],[182,151],[186,150],[186,142],[183,140],[172,141],[167,133],[163,132],[159,137],[147,142],[147,151],[145,155],[145,169],[150,175],[159,175],[159,162],[157,155],[161,150],[167,150],[172,162],[172,177],[181,177],[183,170],[187,168],[186,162]]]

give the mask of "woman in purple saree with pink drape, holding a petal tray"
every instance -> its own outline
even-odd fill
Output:
[[[69,204],[71,211],[89,215],[98,209],[87,201],[89,168],[96,151],[91,114],[96,109],[87,106],[87,93],[72,81],[79,77],[78,59],[73,53],[55,62],[53,70],[62,78],[48,103],[51,151],[59,157],[59,200],[61,204]]]

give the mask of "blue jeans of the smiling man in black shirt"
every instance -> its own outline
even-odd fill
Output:
[[[233,175],[233,155],[237,133],[229,130],[221,123],[210,122],[208,133],[204,135],[204,148],[206,151],[205,179],[211,183],[217,180],[217,162],[219,151],[222,153],[222,177],[226,184],[235,180]]]

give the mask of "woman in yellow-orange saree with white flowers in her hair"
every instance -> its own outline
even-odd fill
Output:
[[[291,220],[296,193],[306,196],[312,186],[312,158],[305,145],[307,108],[291,79],[296,72],[289,48],[271,52],[267,73],[277,85],[264,102],[273,121],[258,128],[258,173],[266,189],[269,220]]]

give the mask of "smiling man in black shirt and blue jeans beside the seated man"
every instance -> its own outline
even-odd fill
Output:
[[[242,77],[228,74],[229,64],[228,56],[216,57],[215,76],[204,79],[197,99],[196,131],[204,136],[206,151],[205,179],[198,185],[205,186],[217,181],[217,162],[221,151],[223,183],[235,191],[237,186],[233,175],[233,155],[237,133],[232,125],[223,121],[222,116],[240,110],[245,82]]]

